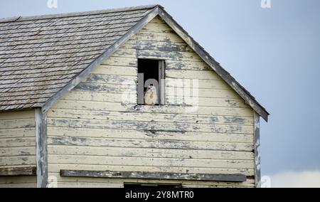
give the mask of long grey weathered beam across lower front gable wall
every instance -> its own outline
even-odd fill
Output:
[[[80,171],[60,170],[60,176],[91,177],[110,179],[166,179],[191,181],[223,181],[243,182],[247,177],[242,174],[175,174],[163,172],[132,172],[132,171]]]

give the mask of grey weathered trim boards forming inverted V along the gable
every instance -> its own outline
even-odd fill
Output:
[[[225,80],[228,85],[230,85],[235,92],[242,97],[243,100],[247,103],[247,105],[250,105],[255,112],[257,112],[258,115],[260,115],[265,121],[268,121],[268,116],[270,115],[267,110],[265,110],[262,105],[260,105],[257,100],[255,100],[255,97],[250,95],[250,92],[245,90],[245,87],[242,87],[240,83],[238,83],[235,78],[233,78],[225,69],[223,69],[218,62],[215,61],[214,58],[210,56],[206,50],[200,46],[199,43],[194,41],[194,39],[188,35],[188,33],[180,26],[176,21],[174,21],[174,18],[170,16],[162,6],[160,5],[154,5],[154,9],[152,9],[144,18],[142,18],[135,26],[129,29],[127,33],[122,36],[122,38],[119,38],[118,41],[116,41],[110,48],[108,48],[105,53],[102,53],[98,58],[96,58],[90,65],[85,68],[79,75],[77,75],[73,80],[71,80],[65,87],[63,87],[62,90],[57,92],[53,97],[51,97],[43,106],[43,112],[47,112],[52,105],[57,102],[63,95],[65,95],[67,92],[72,90],[76,85],[80,83],[82,79],[84,79],[87,75],[92,72],[92,70],[95,70],[99,65],[103,63],[104,60],[110,57],[117,48],[122,46],[129,38],[134,36],[134,34],[138,33],[144,26],[146,26],[149,21],[151,21],[154,17],[160,16],[177,34],[180,36],[183,41],[185,41],[188,46],[190,46],[209,66],[212,68],[215,73],[217,73],[223,80]]]

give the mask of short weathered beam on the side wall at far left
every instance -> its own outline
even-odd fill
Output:
[[[36,176],[36,166],[1,168],[0,176]]]

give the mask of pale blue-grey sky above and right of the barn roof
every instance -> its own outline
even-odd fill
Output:
[[[320,170],[320,1],[2,0],[0,17],[161,4],[271,113],[262,174]]]

